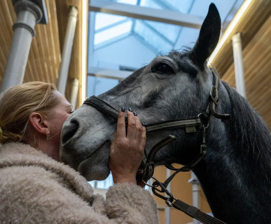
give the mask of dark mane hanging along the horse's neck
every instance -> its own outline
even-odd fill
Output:
[[[270,182],[271,180],[271,135],[264,119],[255,111],[248,101],[235,89],[223,82],[232,109],[230,121],[231,139],[236,139],[235,147],[243,156],[255,161],[252,169],[259,170]]]

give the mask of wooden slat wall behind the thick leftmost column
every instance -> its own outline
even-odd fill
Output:
[[[56,84],[61,61],[55,1],[45,0],[48,24],[35,27],[24,82],[43,81]],[[2,81],[17,16],[11,0],[0,1],[0,81]]]

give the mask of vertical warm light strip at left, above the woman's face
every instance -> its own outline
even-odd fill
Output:
[[[86,34],[87,34],[87,0],[82,0],[82,102],[86,99]]]

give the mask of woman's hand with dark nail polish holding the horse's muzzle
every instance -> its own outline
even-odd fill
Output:
[[[121,109],[117,132],[110,147],[109,168],[114,183],[136,183],[136,173],[144,153],[146,129],[141,125],[137,114],[131,111],[127,111],[128,128],[126,135],[125,108]]]

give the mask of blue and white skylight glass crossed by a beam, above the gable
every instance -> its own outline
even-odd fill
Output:
[[[180,11],[189,13],[193,0],[107,0],[117,3],[140,5],[160,10]],[[151,48],[155,53],[169,51],[175,45],[181,27],[154,21],[127,18],[124,16],[96,13],[95,15],[94,50],[116,42],[118,37],[135,34],[142,43]],[[127,34],[127,35],[125,35]]]

